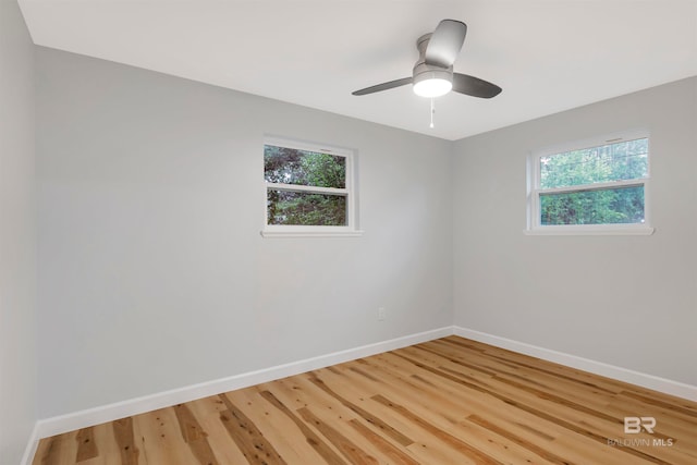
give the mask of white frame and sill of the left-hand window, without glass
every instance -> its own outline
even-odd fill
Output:
[[[264,180],[264,228],[261,235],[264,237],[353,237],[363,234],[358,229],[358,212],[356,199],[356,151],[335,147],[326,144],[296,140],[279,136],[265,136],[264,145],[273,145],[277,147],[294,148],[297,150],[307,150],[321,154],[329,154],[343,157],[346,160],[346,185],[344,188],[334,187],[315,187],[283,183],[270,183]],[[310,192],[317,194],[332,194],[346,197],[346,225],[328,227],[328,225],[305,225],[305,224],[269,224],[268,218],[268,191],[292,191],[292,192]]]

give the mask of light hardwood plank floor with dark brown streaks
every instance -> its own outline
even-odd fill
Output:
[[[449,336],[47,438],[34,458],[247,463],[697,464],[697,403]]]

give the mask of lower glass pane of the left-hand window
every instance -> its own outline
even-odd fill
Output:
[[[269,189],[268,224],[345,227],[346,197]]]

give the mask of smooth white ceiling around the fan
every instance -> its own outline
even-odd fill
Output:
[[[19,0],[35,44],[445,139],[697,75],[697,0]],[[467,23],[455,71],[491,100],[411,86],[416,39]]]

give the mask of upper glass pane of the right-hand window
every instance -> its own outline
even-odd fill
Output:
[[[648,138],[624,140],[540,158],[540,188],[648,176]]]

